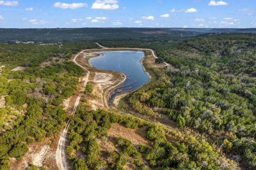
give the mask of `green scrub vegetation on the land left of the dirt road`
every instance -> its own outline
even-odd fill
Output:
[[[83,71],[70,62],[71,54],[93,43],[57,45],[0,44],[0,169],[9,169],[9,158],[21,157],[28,144],[53,137],[65,124],[60,105],[74,94]],[[44,63],[48,63],[44,65]],[[24,66],[22,71],[11,71]]]

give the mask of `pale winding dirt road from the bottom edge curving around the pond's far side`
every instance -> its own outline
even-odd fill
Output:
[[[102,45],[100,45],[99,43],[95,43],[97,44],[99,47],[101,47],[102,49],[106,50],[106,49],[130,49],[130,50],[150,50],[151,54],[155,57],[155,58],[158,58],[154,52],[153,49],[146,49],[146,48],[108,48],[108,47],[104,47]],[[84,85],[83,85],[83,90],[80,92],[79,96],[77,97],[76,99],[76,102],[75,102],[75,105],[74,105],[74,108],[73,108],[73,112],[65,126],[65,129],[62,131],[61,133],[61,136],[60,136],[60,139],[59,139],[59,142],[58,142],[58,148],[57,148],[57,151],[56,151],[56,154],[55,154],[55,159],[56,159],[56,163],[58,165],[58,168],[59,170],[68,170],[68,167],[67,167],[67,159],[66,159],[66,152],[65,152],[65,144],[66,144],[66,138],[67,138],[67,133],[68,133],[68,128],[69,128],[69,124],[70,124],[70,120],[71,118],[74,116],[75,112],[76,112],[76,108],[77,106],[79,105],[79,101],[80,101],[80,98],[81,96],[83,95],[83,92],[86,88],[86,84],[88,82],[88,79],[89,79],[89,76],[90,76],[90,71],[86,69],[86,67],[82,66],[81,64],[77,63],[76,62],[76,58],[77,56],[79,56],[80,54],[83,54],[84,52],[86,51],[89,51],[89,50],[92,50],[92,49],[87,49],[87,50],[82,50],[80,53],[78,53],[74,58],[73,58],[73,62],[78,65],[79,67],[81,67],[82,69],[84,69],[85,71],[87,71],[87,74],[86,74],[86,77],[85,77],[85,80],[84,80]],[[164,62],[164,64],[166,66],[170,65],[166,62]]]

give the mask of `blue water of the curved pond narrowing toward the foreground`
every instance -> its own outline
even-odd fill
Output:
[[[109,99],[109,104],[115,96],[124,92],[134,91],[145,84],[149,76],[143,70],[141,60],[143,52],[118,51],[118,52],[97,52],[102,56],[93,57],[90,63],[101,70],[111,70],[124,73],[126,80],[121,87],[115,89]]]

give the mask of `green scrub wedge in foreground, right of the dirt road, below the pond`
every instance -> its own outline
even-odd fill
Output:
[[[113,123],[130,129],[146,126],[146,138],[151,145],[134,145],[123,137],[110,138],[108,130]],[[73,169],[237,169],[233,161],[202,137],[166,129],[133,116],[90,111],[85,105],[77,108],[69,131],[66,153]],[[102,150],[99,140],[112,143],[115,150]]]

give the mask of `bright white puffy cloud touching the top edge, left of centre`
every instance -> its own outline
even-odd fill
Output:
[[[117,0],[96,0],[91,8],[96,10],[116,10],[119,5]]]

